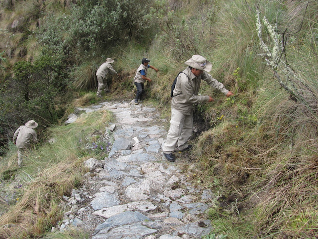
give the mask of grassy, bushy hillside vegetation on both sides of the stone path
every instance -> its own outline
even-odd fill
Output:
[[[211,75],[235,93],[226,99],[202,83],[200,94],[217,100],[195,107],[200,130],[192,157],[202,170],[193,180],[216,195],[208,212],[214,233],[318,238],[318,1],[0,0],[0,6],[0,185],[27,178],[18,195],[0,200],[0,238],[41,237],[61,219],[59,200],[80,183],[87,155],[73,152],[70,165],[61,165],[54,155],[77,148],[69,145],[74,140],[52,151],[46,142],[53,129],[71,130],[53,125],[74,104],[98,100],[95,72],[107,57],[119,75],[104,100],[133,99],[132,79],[148,57],[160,71],[149,73],[146,100],[168,119],[171,83],[194,54],[211,61]],[[15,175],[10,140],[29,119],[39,122],[42,143],[28,156],[50,164]],[[51,178],[66,167],[67,183]],[[35,183],[47,177],[50,183]]]

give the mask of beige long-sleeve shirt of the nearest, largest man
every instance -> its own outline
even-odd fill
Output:
[[[183,73],[179,74],[173,90],[173,95],[182,94],[172,98],[171,107],[184,115],[191,114],[193,104],[197,102],[208,102],[210,99],[209,96],[198,96],[201,80],[205,81],[209,86],[218,89],[225,95],[229,92],[222,83],[218,82],[205,71],[198,77],[191,72],[189,67],[185,68],[182,72],[189,78]]]

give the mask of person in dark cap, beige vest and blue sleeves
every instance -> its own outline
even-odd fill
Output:
[[[151,82],[151,79],[147,77],[148,68],[154,69],[156,72],[159,70],[156,67],[149,65],[150,60],[143,58],[141,60],[141,65],[138,67],[136,76],[134,78],[135,86],[137,87],[137,94],[135,97],[135,104],[138,105],[138,100],[141,100],[142,95],[144,94],[144,83],[146,81]]]

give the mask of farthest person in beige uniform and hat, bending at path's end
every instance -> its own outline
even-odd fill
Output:
[[[98,81],[98,90],[97,90],[97,96],[101,97],[101,92],[104,90],[105,92],[108,92],[108,85],[107,85],[107,78],[106,75],[108,73],[110,74],[117,74],[117,71],[114,70],[111,63],[114,63],[115,60],[112,58],[107,58],[106,61],[101,64],[101,66],[98,68],[96,72],[97,81]]]

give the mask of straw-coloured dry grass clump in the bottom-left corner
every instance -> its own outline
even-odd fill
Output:
[[[70,194],[80,179],[79,168],[70,162],[42,172],[27,185],[17,203],[0,217],[3,238],[36,237],[63,218],[63,211],[58,207],[61,196]]]

